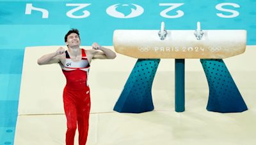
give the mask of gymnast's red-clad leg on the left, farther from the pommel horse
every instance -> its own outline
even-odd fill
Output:
[[[63,102],[65,114],[67,117],[67,132],[66,132],[66,144],[74,145],[74,137],[76,135],[77,128],[77,109],[74,100],[72,99],[72,92],[64,89]]]

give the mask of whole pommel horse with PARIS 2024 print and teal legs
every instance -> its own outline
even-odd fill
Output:
[[[206,109],[237,113],[248,108],[223,59],[244,53],[246,31],[204,30],[116,30],[113,46],[117,53],[137,60],[114,110],[120,113],[152,111],[152,83],[161,59],[175,59],[175,111],[185,111],[185,59],[200,59],[209,85]]]

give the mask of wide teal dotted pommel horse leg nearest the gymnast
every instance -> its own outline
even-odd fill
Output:
[[[120,113],[152,111],[151,88],[160,59],[138,59],[114,110]]]

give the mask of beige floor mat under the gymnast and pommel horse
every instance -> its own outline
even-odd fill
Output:
[[[65,144],[62,101],[65,78],[56,64],[36,64],[40,56],[57,48],[26,48],[15,144]],[[157,69],[152,87],[154,111],[116,113],[113,107],[136,59],[117,55],[115,60],[93,60],[88,145],[255,144],[255,54],[256,47],[248,46],[242,55],[224,60],[249,108],[243,113],[227,114],[206,111],[209,90],[198,59],[186,59],[184,113],[174,111],[173,59],[161,60]]]

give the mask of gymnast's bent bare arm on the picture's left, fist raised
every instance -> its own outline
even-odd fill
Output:
[[[65,49],[63,47],[60,47],[58,48],[58,50],[56,50],[56,52],[52,52],[40,57],[40,59],[37,60],[37,64],[45,65],[58,63],[61,61],[61,57],[63,57],[64,52]]]

